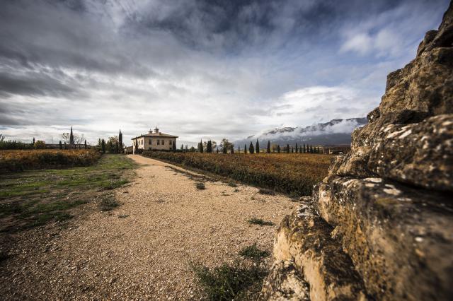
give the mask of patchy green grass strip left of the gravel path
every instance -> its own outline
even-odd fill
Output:
[[[93,199],[101,199],[101,210],[111,210],[119,204],[103,191],[127,184],[135,167],[125,155],[103,155],[87,167],[0,175],[0,231],[69,220],[74,208]]]

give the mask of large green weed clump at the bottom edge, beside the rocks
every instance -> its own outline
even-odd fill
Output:
[[[243,300],[257,295],[260,284],[268,273],[259,265],[246,266],[240,261],[214,268],[192,264],[191,268],[207,299],[216,301]]]

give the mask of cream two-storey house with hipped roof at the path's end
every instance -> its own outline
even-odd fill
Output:
[[[132,138],[132,152],[135,153],[137,149],[142,151],[171,151],[173,144],[176,148],[176,138],[178,136],[161,133],[157,128],[154,131],[149,130],[148,134]]]

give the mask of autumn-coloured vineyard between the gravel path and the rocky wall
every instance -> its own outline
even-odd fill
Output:
[[[330,155],[318,154],[215,154],[145,151],[144,156],[212,172],[237,181],[298,196],[311,194],[326,177]]]

